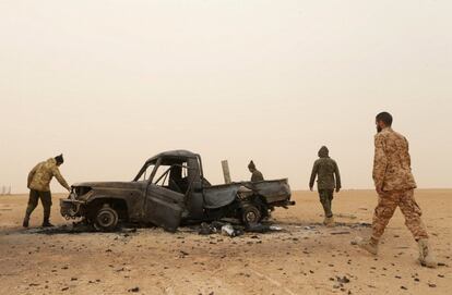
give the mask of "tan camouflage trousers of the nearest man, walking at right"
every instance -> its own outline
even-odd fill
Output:
[[[379,241],[384,233],[395,209],[400,207],[405,217],[405,225],[416,241],[428,238],[426,226],[420,219],[423,211],[414,199],[414,189],[384,192],[378,197],[372,221],[372,239]]]

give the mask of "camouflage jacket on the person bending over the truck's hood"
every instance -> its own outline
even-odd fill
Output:
[[[50,181],[53,176],[62,186],[67,189],[71,189],[63,176],[61,176],[57,161],[53,158],[38,163],[32,171],[29,171],[27,186],[29,189],[50,192]]]

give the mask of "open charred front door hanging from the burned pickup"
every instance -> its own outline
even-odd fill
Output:
[[[170,185],[171,165],[157,164],[155,170],[146,189],[145,220],[175,232],[185,209],[185,195]]]

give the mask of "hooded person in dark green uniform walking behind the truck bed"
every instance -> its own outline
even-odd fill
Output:
[[[323,206],[325,219],[323,224],[326,226],[334,226],[333,212],[331,211],[331,202],[333,200],[334,188],[336,193],[341,190],[341,174],[336,161],[329,157],[328,147],[323,146],[319,150],[319,159],[314,162],[311,173],[311,180],[309,182],[309,189],[312,192],[312,187],[317,181],[317,187],[319,190],[320,202]]]

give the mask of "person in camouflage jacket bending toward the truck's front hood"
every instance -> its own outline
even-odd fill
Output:
[[[24,228],[28,228],[29,216],[33,210],[35,210],[39,199],[44,207],[43,226],[53,226],[49,221],[51,208],[51,179],[55,176],[66,189],[71,190],[71,187],[68,185],[63,176],[61,176],[60,170],[58,169],[58,167],[60,167],[63,162],[64,159],[62,155],[60,155],[38,163],[28,173],[27,187],[29,188],[29,198],[23,222]]]

